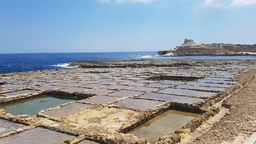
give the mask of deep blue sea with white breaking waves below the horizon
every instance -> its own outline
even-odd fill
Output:
[[[256,60],[256,56],[157,57],[157,52],[0,53],[0,74],[68,67],[84,60]]]

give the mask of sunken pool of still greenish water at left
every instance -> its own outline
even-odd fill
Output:
[[[25,100],[19,100],[7,104],[1,104],[0,108],[5,109],[6,112],[12,115],[36,115],[40,110],[47,108],[54,108],[61,104],[81,100],[83,98],[63,96],[57,94],[46,94],[42,96],[36,96]]]

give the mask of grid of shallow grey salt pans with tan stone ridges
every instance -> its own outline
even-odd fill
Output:
[[[1,103],[49,92],[80,96],[84,97],[84,100],[41,110],[32,117],[12,116],[2,110],[0,141],[36,143],[39,139],[47,140],[48,138],[44,137],[49,134],[54,135],[50,139],[51,143],[65,143],[65,140],[68,140],[67,143],[81,144],[114,143],[115,140],[111,141],[111,138],[108,139],[110,141],[100,138],[107,132],[109,137],[118,135],[118,140],[122,143],[129,143],[129,140],[130,143],[134,142],[131,142],[132,140],[146,143],[143,139],[133,136],[131,138],[129,134],[119,132],[128,132],[172,105],[178,109],[193,109],[197,103],[204,105],[205,101],[218,95],[218,92],[238,84],[229,81],[231,78],[252,69],[256,69],[256,66],[239,63],[221,68],[76,68],[2,74]],[[157,76],[163,77],[154,79]],[[173,76],[193,76],[199,79],[175,81],[172,80]],[[88,98],[88,95],[91,97]],[[34,125],[36,128],[18,132],[18,129],[25,125],[3,120],[10,118],[23,124]],[[6,129],[3,126],[6,124],[11,127]],[[86,133],[87,129],[95,130],[93,136]],[[10,133],[11,131],[15,133]],[[72,133],[75,136],[70,135]],[[28,136],[35,139],[29,139]]]

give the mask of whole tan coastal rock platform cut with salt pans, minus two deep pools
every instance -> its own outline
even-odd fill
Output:
[[[146,136],[129,132],[174,109],[199,116],[150,143],[232,143],[256,121],[256,60],[70,62],[75,65],[80,68],[0,75],[0,141],[26,143],[29,135],[45,140],[51,134],[53,143],[147,144]],[[34,116],[3,107],[49,93],[79,99]]]

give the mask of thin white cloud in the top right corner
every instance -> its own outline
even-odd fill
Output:
[[[235,7],[242,7],[246,5],[256,4],[256,0],[204,0],[203,3],[194,4],[196,9],[202,8],[222,8],[233,9]]]

